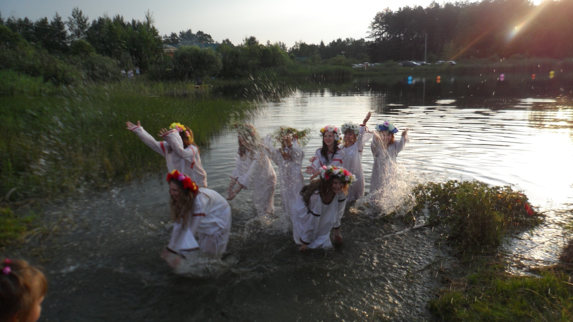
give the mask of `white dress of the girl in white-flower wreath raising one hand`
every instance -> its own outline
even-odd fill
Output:
[[[364,197],[364,171],[362,171],[362,151],[366,142],[372,139],[372,133],[367,127],[360,125],[356,142],[350,147],[342,147],[344,151],[344,168],[356,176],[356,181],[348,187],[348,201],[356,201]]]

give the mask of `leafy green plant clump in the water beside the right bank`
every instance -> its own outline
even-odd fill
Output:
[[[512,229],[533,227],[543,219],[523,193],[479,181],[419,184],[411,202],[413,213],[426,209],[430,225],[445,227],[443,237],[457,254],[494,251]]]

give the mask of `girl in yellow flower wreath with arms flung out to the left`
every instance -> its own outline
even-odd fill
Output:
[[[163,128],[159,131],[159,135],[165,141],[156,141],[143,129],[139,121],[138,125],[130,121],[127,121],[125,125],[129,131],[136,133],[151,150],[165,157],[169,172],[177,170],[190,176],[199,186],[207,186],[207,174],[203,170],[199,148],[195,144],[193,131],[190,128],[180,123],[172,123],[169,130]]]

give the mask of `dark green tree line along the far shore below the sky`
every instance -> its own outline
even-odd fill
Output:
[[[241,77],[258,69],[289,68],[298,62],[348,66],[364,61],[418,61],[425,53],[429,61],[497,56],[564,58],[573,56],[572,16],[571,0],[547,0],[540,5],[529,0],[432,2],[426,8],[405,6],[376,13],[366,39],[338,38],[328,44],[300,41],[287,48],[283,42],[261,44],[253,36],[238,45],[228,38],[219,43],[210,34],[193,33],[191,29],[160,36],[149,11],[143,21],[104,15],[90,22],[76,7],[65,22],[57,13],[51,20],[44,17],[37,21],[0,15],[0,68],[23,73],[32,70],[28,74],[67,84],[77,78],[113,78],[106,76],[116,70],[109,59],[122,68],[139,66],[152,78],[186,79]],[[16,41],[15,34],[22,41]],[[197,44],[201,49],[187,48]],[[166,56],[166,45],[178,50]],[[14,52],[17,49],[19,52]],[[64,61],[81,66],[83,75],[74,76]],[[49,75],[42,67],[46,64],[53,67]],[[58,72],[60,69],[65,72]],[[104,72],[98,73],[99,69]]]

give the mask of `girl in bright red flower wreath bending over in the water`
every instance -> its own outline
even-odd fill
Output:
[[[173,170],[167,175],[174,226],[163,258],[177,266],[185,254],[201,250],[221,257],[227,249],[231,207],[225,198],[207,187],[198,187],[189,176]],[[199,242],[195,239],[197,235]],[[169,253],[179,256],[171,257]]]

